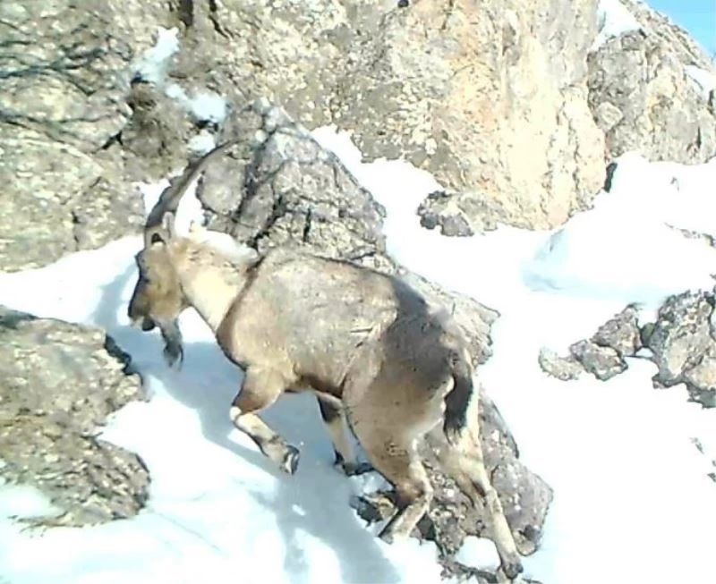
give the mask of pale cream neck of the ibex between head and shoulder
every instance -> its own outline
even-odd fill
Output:
[[[216,333],[237,294],[246,284],[246,269],[212,250],[192,250],[175,263],[186,300]]]

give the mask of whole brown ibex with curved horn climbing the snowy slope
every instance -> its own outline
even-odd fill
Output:
[[[432,487],[418,455],[438,444],[444,470],[475,504],[483,497],[502,571],[522,572],[515,540],[490,483],[478,436],[478,395],[464,332],[399,278],[279,246],[262,257],[226,233],[175,233],[184,190],[226,142],[189,165],[149,213],[128,315],[158,326],[169,366],[183,359],[177,317],[193,307],[226,357],[243,368],[230,416],[268,459],[293,474],[298,450],[259,417],[284,392],[310,390],[337,461],[356,471],[344,417],[373,467],[395,487],[397,511],[380,531],[407,537]]]

